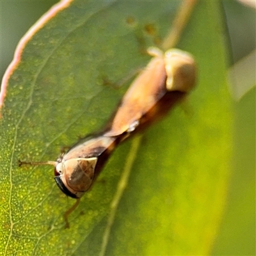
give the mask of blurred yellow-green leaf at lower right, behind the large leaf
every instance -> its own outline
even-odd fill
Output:
[[[256,255],[255,95],[256,87],[234,104],[234,172],[228,188],[227,210],[212,255]]]

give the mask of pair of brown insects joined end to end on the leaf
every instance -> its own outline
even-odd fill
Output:
[[[92,186],[119,143],[165,115],[195,86],[196,65],[193,57],[179,49],[165,53],[150,48],[153,56],[136,77],[115,113],[102,131],[86,136],[52,164],[58,187],[72,198],[81,198]]]

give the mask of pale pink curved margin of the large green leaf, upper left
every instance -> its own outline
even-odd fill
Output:
[[[17,45],[14,57],[8,68],[6,69],[6,72],[4,73],[3,80],[1,83],[1,92],[0,92],[0,111],[3,106],[4,97],[6,96],[6,89],[8,86],[8,80],[10,79],[10,76],[12,76],[13,71],[17,67],[20,61],[20,56],[22,54],[22,51],[24,50],[26,44],[31,40],[33,35],[44,27],[44,24],[51,20],[58,12],[61,10],[64,10],[67,8],[74,0],[61,0],[59,3],[54,4],[52,8],[46,12],[29,30],[28,32],[20,39],[19,44]],[[1,115],[0,115],[1,118]]]

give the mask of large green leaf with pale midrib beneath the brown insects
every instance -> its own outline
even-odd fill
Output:
[[[51,167],[17,164],[55,160],[61,147],[104,125],[129,86],[106,81],[124,81],[147,65],[141,50],[166,36],[177,3],[74,1],[28,40],[2,108],[1,253],[211,252],[225,205],[232,123],[218,2],[196,5],[178,45],[198,62],[190,115],[176,108],[120,145],[72,212],[69,229],[63,213],[74,200],[54,184]]]

